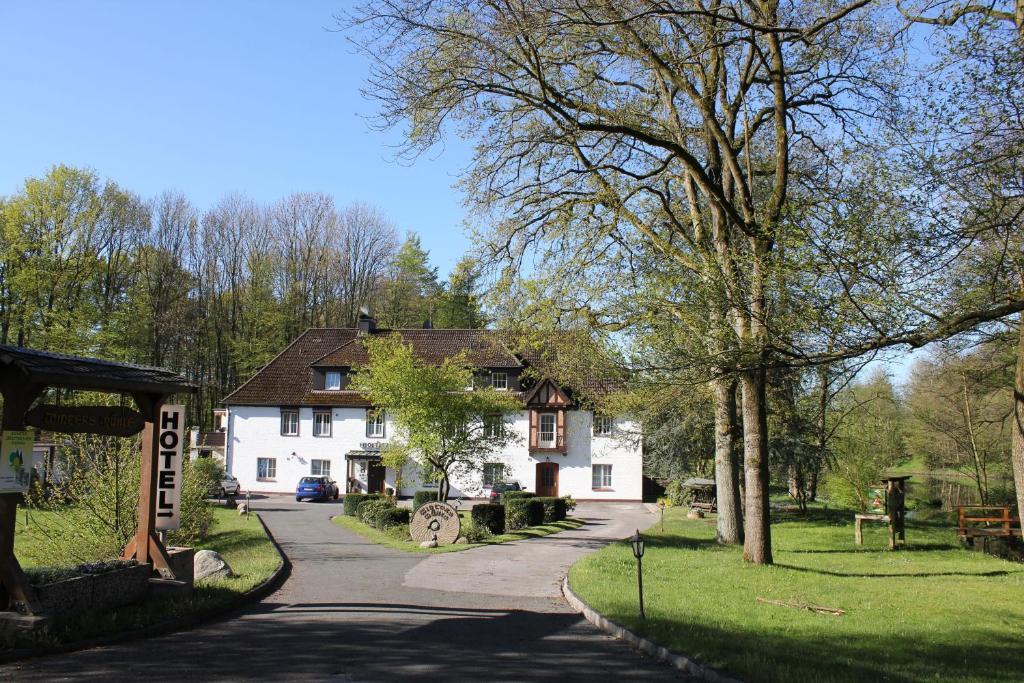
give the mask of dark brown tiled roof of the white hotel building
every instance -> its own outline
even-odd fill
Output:
[[[476,368],[515,369],[536,366],[543,374],[541,353],[513,353],[504,333],[490,330],[375,330],[374,336],[398,333],[424,362],[441,362],[460,352]],[[561,353],[559,355],[564,355]],[[369,407],[356,391],[312,388],[313,368],[351,368],[367,362],[366,348],[354,329],[309,329],[248,382],[224,398],[228,405],[351,405]],[[599,378],[586,381],[593,391],[606,390]],[[593,386],[591,386],[593,385]]]

